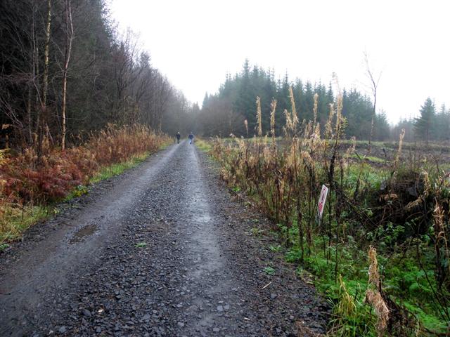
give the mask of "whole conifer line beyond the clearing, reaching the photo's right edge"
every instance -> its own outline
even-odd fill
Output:
[[[283,133],[285,125],[284,110],[290,110],[289,88],[293,88],[295,107],[300,121],[314,119],[314,95],[318,97],[317,116],[321,126],[325,126],[330,113],[330,104],[335,103],[335,93],[331,84],[321,82],[312,84],[301,79],[290,80],[286,73],[283,79],[275,79],[273,70],[264,70],[257,65],[250,66],[245,60],[240,72],[226,79],[217,93],[206,94],[202,109],[198,113],[198,132],[205,136],[253,136],[257,127],[257,97],[261,101],[262,128],[270,130],[271,100],[275,98],[275,131]],[[398,140],[401,130],[406,130],[405,140],[448,140],[450,139],[450,110],[442,106],[436,112],[435,105],[428,98],[420,108],[420,117],[402,119],[394,126],[387,121],[384,111],[375,112],[371,97],[352,88],[342,89],[342,116],[345,117],[347,137],[359,140]],[[373,131],[372,131],[373,119]]]

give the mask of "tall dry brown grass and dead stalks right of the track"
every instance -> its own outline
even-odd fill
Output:
[[[293,100],[292,90],[290,99]],[[260,104],[258,99],[257,107]],[[297,124],[297,111],[295,104],[291,103],[291,111],[284,111],[285,137],[276,143],[274,138],[276,101],[273,101],[270,131],[268,131],[268,134],[272,136],[271,144],[262,137],[258,122],[259,136],[255,140],[234,138],[234,143],[227,143],[218,139],[214,142],[212,150],[222,164],[222,178],[231,187],[239,187],[241,194],[248,194],[256,201],[256,206],[273,220],[272,229],[278,231],[285,246],[295,245],[295,249],[300,251],[297,257],[299,263],[306,260],[305,256],[311,263],[309,255],[311,251],[321,250],[327,265],[328,262],[330,266],[333,265],[334,280],[336,283],[341,282],[339,303],[342,306],[336,312],[338,316],[350,316],[350,319],[335,319],[333,331],[347,329],[347,324],[356,324],[355,322],[361,319],[362,315],[352,309],[355,303],[345,289],[342,279],[339,278],[342,271],[340,263],[342,265],[348,263],[342,260],[342,250],[345,249],[348,252],[349,249],[354,249],[347,246],[350,244],[349,236],[361,247],[367,247],[368,238],[364,234],[361,235],[361,232],[372,234],[371,231],[383,231],[384,226],[392,225],[399,218],[411,219],[409,217],[422,216],[419,220],[424,221],[423,223],[430,220],[435,223],[433,232],[435,237],[432,237],[436,251],[435,267],[441,268],[440,265],[445,265],[445,270],[441,268],[435,273],[437,284],[443,289],[444,286],[448,286],[450,277],[449,249],[446,243],[449,230],[449,203],[448,197],[445,197],[450,191],[449,175],[441,174],[436,178],[430,177],[426,170],[420,176],[416,175],[416,172],[406,171],[406,164],[401,160],[404,138],[404,133],[401,133],[397,155],[390,166],[385,166],[383,176],[380,177],[384,181],[378,182],[382,186],[386,184],[385,187],[375,187],[376,183],[371,185],[364,180],[367,171],[364,160],[361,160],[359,164],[351,164],[356,149],[356,139],[352,139],[349,147],[340,146],[343,143],[342,136],[345,128],[342,104],[342,95],[338,95],[335,105],[330,105],[328,120],[321,129],[314,118],[313,121]],[[314,106],[316,105],[318,102],[315,100]],[[258,108],[257,116],[259,116]],[[348,142],[345,142],[345,145],[348,145]],[[410,202],[411,194],[408,192],[411,187],[408,178],[410,176],[413,177],[411,181],[413,185],[415,184],[414,186],[423,185],[423,190],[418,191],[417,200],[412,202]],[[404,184],[405,181],[406,184]],[[316,218],[317,199],[322,184],[330,187],[330,194],[323,218],[319,220]],[[434,217],[432,211],[426,211],[426,209],[430,210],[430,200],[433,196],[437,198],[437,203],[434,203]],[[422,207],[425,204],[428,206]],[[420,209],[425,209],[423,211],[425,213],[420,214],[422,212]],[[398,224],[404,226],[405,221]],[[288,234],[291,230],[295,234]],[[321,242],[314,241],[319,238]],[[374,242],[373,239],[370,240]],[[418,259],[420,259],[420,249],[422,247],[418,248]],[[427,252],[429,253],[429,249]],[[359,262],[364,263],[362,260]],[[375,249],[369,250],[369,263],[369,289],[366,293],[366,303],[370,303],[375,311],[376,330],[379,334],[387,330],[411,331],[411,326],[416,324],[417,320],[411,319],[411,315],[405,308],[394,303],[383,293]],[[420,269],[424,270],[424,267],[420,265]],[[440,279],[439,275],[441,275]],[[428,284],[431,289],[435,286],[433,279],[428,279]],[[434,301],[440,305],[442,312],[446,315],[445,303],[448,302],[446,299],[441,300],[445,296],[439,294],[444,292],[437,290],[434,291]],[[368,308],[360,302],[358,305],[359,308],[361,306]],[[366,321],[370,324],[368,329],[373,329],[375,317],[371,313],[368,313],[368,316],[370,316]],[[356,329],[360,328],[361,326],[357,326]],[[360,331],[364,331],[364,328],[361,329]]]

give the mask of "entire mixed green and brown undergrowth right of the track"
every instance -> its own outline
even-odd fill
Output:
[[[404,156],[404,133],[391,159],[357,153],[356,140],[342,139],[341,95],[324,126],[316,121],[317,96],[314,119],[301,124],[292,90],[290,101],[284,138],[275,138],[276,100],[263,136],[258,98],[255,138],[212,141],[222,178],[273,220],[299,277],[314,277],[333,307],[330,335],[444,336],[450,173],[426,157]],[[330,192],[319,218],[322,185]]]

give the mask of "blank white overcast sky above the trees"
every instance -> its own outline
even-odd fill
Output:
[[[364,51],[382,72],[378,109],[414,117],[430,96],[450,107],[450,1],[110,0],[121,30],[139,34],[152,63],[201,105],[245,58],[277,76],[366,86]]]

